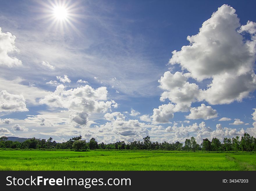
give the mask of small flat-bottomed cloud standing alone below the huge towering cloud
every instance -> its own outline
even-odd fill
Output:
[[[211,106],[206,106],[204,103],[197,108],[191,108],[190,114],[186,116],[187,119],[213,119],[218,117],[218,113]]]

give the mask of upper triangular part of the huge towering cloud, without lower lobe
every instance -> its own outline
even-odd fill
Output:
[[[227,5],[218,8],[198,34],[187,37],[190,45],[173,52],[169,63],[180,63],[200,81],[225,72],[249,72],[254,56],[237,32],[240,24],[235,11]]]

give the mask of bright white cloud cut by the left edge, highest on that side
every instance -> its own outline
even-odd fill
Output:
[[[0,27],[0,65],[6,65],[8,67],[22,65],[22,61],[8,55],[8,53],[19,52],[19,49],[15,47],[15,39],[15,35],[9,32],[3,33]]]

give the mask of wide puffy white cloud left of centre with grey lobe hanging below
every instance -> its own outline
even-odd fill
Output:
[[[66,108],[70,112],[70,120],[79,124],[88,123],[89,113],[105,113],[111,108],[117,108],[114,101],[107,101],[108,91],[106,87],[96,90],[89,85],[65,90],[64,85],[58,85],[53,93],[39,100],[40,104],[46,104],[54,108]]]

